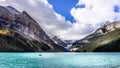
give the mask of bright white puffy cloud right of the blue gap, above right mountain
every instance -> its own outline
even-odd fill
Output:
[[[70,12],[76,20],[73,28],[79,27],[79,30],[84,30],[81,30],[83,34],[92,32],[105,21],[119,20],[120,13],[114,9],[120,6],[120,0],[79,0],[76,6],[80,5],[84,7],[74,7]]]

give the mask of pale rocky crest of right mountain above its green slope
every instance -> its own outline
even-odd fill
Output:
[[[114,31],[119,28],[120,28],[120,21],[115,21],[107,25],[104,25],[98,28],[94,33],[73,43],[73,45],[70,48],[70,51],[80,51],[86,46],[89,46],[88,44],[91,43],[93,40],[96,40],[100,36],[103,36],[107,34],[108,32]]]

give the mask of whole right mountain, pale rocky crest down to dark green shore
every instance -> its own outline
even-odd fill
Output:
[[[76,41],[75,52],[120,52],[120,21],[108,22],[89,36]]]

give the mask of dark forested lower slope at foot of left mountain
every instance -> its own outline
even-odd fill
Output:
[[[42,42],[40,43],[37,40],[28,40],[19,34],[15,34],[14,36],[0,34],[0,46],[0,51],[5,52],[33,52],[39,49],[41,49],[41,51],[48,51],[50,49],[49,46]]]

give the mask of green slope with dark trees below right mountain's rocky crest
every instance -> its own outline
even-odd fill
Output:
[[[86,44],[82,51],[87,52],[116,52],[120,51],[120,29],[116,29],[96,39],[91,38],[91,42]]]

